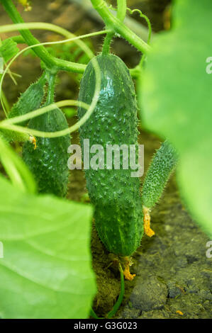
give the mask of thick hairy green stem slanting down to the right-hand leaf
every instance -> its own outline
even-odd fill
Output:
[[[146,54],[150,50],[150,46],[147,45],[147,43],[139,38],[138,35],[133,33],[132,30],[126,27],[116,16],[113,16],[113,14],[108,10],[104,0],[91,0],[91,4],[104,19],[108,28],[111,28],[115,33],[122,35],[125,40],[128,40],[128,42],[135,46],[140,52]]]

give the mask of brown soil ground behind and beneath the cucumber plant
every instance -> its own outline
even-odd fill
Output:
[[[129,1],[138,5],[141,1]],[[58,6],[59,4],[59,6]],[[164,26],[164,9],[169,1],[142,1],[144,13],[150,17],[153,30]],[[76,15],[73,13],[75,11]],[[72,13],[72,15],[69,15]],[[45,21],[64,26],[73,33],[88,33],[102,28],[87,17],[69,1],[33,1],[33,11],[23,13],[26,21]],[[1,24],[11,23],[0,6]],[[83,27],[81,23],[83,22]],[[52,38],[50,33],[35,33],[40,40]],[[6,36],[4,36],[6,37]],[[101,50],[101,38],[92,40],[94,48]],[[123,40],[113,43],[113,52],[120,55],[129,67],[139,60],[138,52]],[[19,92],[24,91],[30,81],[40,74],[39,61],[28,56],[23,62],[20,58],[13,64],[13,72],[22,75],[18,86],[6,79],[4,90],[9,91],[10,102],[16,101]],[[70,92],[71,91],[71,92]],[[77,99],[78,85],[70,74],[60,74],[57,88],[57,100]],[[71,95],[71,96],[70,96]],[[76,121],[72,118],[70,123]],[[152,154],[160,147],[160,138],[141,130],[140,143],[145,145],[145,171],[150,164]],[[79,142],[78,134],[72,142]],[[143,181],[144,176],[141,179]],[[68,198],[87,202],[86,181],[83,171],[74,170],[70,174]],[[212,317],[212,269],[211,261],[206,257],[208,237],[201,232],[186,212],[179,197],[175,175],[169,180],[160,202],[152,209],[152,229],[155,236],[144,236],[141,246],[133,254],[131,272],[136,276],[133,281],[125,281],[125,296],[118,310],[118,318],[211,318]],[[93,268],[96,273],[98,293],[94,299],[97,315],[105,316],[116,303],[120,292],[120,276],[113,265],[111,256],[100,242],[93,227],[91,235]]]

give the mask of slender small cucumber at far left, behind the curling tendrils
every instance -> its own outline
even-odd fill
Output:
[[[28,89],[21,94],[18,101],[13,105],[9,112],[9,118],[17,117],[18,115],[26,115],[31,111],[35,111],[40,108],[40,104],[43,101],[44,96],[44,84],[43,81],[38,79],[37,82],[30,84]],[[28,120],[18,123],[18,125],[27,125]]]

